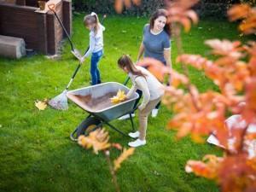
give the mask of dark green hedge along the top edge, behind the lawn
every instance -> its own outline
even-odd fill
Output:
[[[125,9],[123,15],[148,16],[156,9],[164,7],[165,0],[142,0],[140,6],[132,5]],[[231,4],[240,2],[253,2],[253,0],[201,0],[195,6],[197,13],[203,17],[225,17]],[[115,15],[114,0],[73,0],[73,7],[77,11],[95,11],[98,14]]]

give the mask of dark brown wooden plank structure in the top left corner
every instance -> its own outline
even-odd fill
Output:
[[[32,4],[32,0],[30,2]],[[63,21],[67,32],[72,32],[72,8],[70,0],[50,0]],[[25,3],[26,4],[26,3]],[[61,25],[49,10],[37,7],[0,3],[0,34],[24,38],[27,49],[54,55],[65,37]]]

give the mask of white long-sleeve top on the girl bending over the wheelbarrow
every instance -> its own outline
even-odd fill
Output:
[[[149,101],[158,99],[160,98],[160,96],[163,96],[165,90],[164,85],[161,84],[152,73],[148,72],[147,69],[139,66],[136,67],[145,75],[145,78],[143,76],[137,76],[129,73],[132,87],[131,90],[129,90],[129,92],[127,93],[127,97],[130,98],[136,90],[142,90],[143,102],[140,108],[143,109],[146,107]]]

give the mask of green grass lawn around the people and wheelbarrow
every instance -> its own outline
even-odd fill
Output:
[[[73,20],[73,40],[78,49],[86,49],[88,44],[83,16],[76,15]],[[136,59],[146,22],[131,17],[105,20],[105,55],[100,64],[104,82],[125,80],[116,61],[122,54]],[[227,37],[239,38],[236,25],[203,20],[183,35],[183,48],[188,53],[209,55],[204,40]],[[177,49],[173,41],[172,44],[173,67],[180,71],[181,67],[174,62]],[[92,154],[69,139],[86,113],[72,102],[64,112],[52,108],[38,111],[34,106],[37,99],[60,94],[76,65],[67,42],[60,61],[48,60],[44,55],[19,61],[0,58],[0,191],[114,191],[103,155]],[[71,90],[89,85],[89,67],[89,61],[85,61]],[[202,73],[192,68],[189,71],[201,91],[215,89]],[[184,172],[184,165],[189,159],[221,151],[208,144],[192,143],[189,137],[177,142],[175,132],[166,130],[171,117],[172,112],[163,107],[157,119],[149,118],[147,145],[137,148],[118,172],[121,191],[218,191],[215,183]],[[125,132],[131,129],[128,121],[115,120],[113,125]],[[129,138],[108,131],[111,142],[127,146]],[[117,155],[113,152],[113,157]]]

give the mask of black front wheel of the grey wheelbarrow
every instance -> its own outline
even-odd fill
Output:
[[[96,129],[102,128],[100,124],[101,121],[99,119],[96,119],[95,117],[85,119],[78,126],[77,137],[79,137],[80,135],[88,136],[91,131],[95,131]]]

